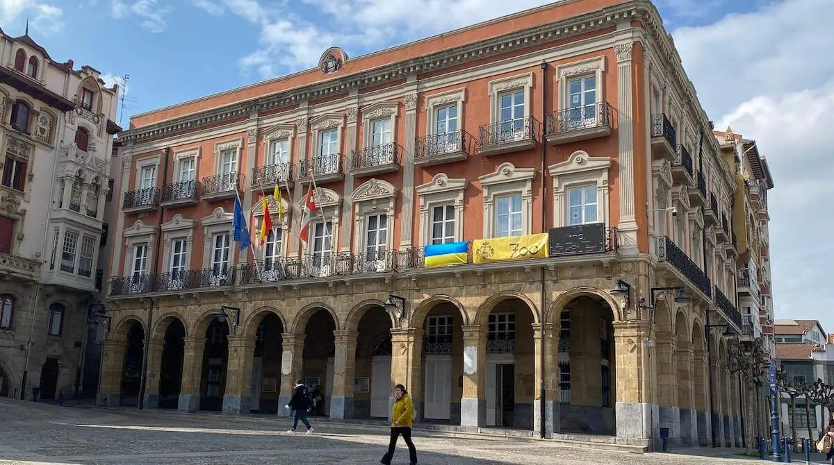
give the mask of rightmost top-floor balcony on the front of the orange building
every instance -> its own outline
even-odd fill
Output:
[[[611,130],[608,102],[550,112],[545,119],[545,139],[553,145],[605,138]]]

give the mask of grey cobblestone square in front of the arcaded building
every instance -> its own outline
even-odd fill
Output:
[[[385,428],[314,423],[286,433],[286,420],[160,411],[56,407],[0,399],[0,463],[9,464],[365,464],[379,463]],[[760,463],[677,454],[570,448],[550,441],[415,431],[424,465]],[[697,451],[693,452],[697,453]],[[404,444],[395,464],[408,463]]]

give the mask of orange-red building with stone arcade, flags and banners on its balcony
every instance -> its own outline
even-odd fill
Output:
[[[708,213],[737,172],[711,130],[642,0],[334,47],[136,115],[99,400],[280,414],[301,378],[332,418],[386,418],[404,383],[425,423],[741,445],[735,225]]]

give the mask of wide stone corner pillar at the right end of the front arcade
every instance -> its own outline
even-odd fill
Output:
[[[645,321],[614,323],[617,438],[640,439],[647,443],[659,434],[652,424],[657,406],[652,403],[650,390],[654,364],[652,349],[646,347],[646,340],[651,335],[650,325]],[[570,358],[572,362],[572,353]]]

